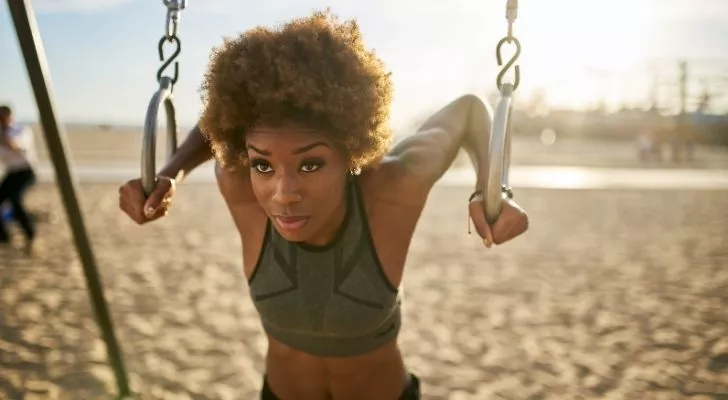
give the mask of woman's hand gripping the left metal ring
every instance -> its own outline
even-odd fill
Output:
[[[141,179],[133,179],[119,188],[119,208],[139,225],[166,216],[172,206],[175,181],[157,177],[157,186],[147,198]]]

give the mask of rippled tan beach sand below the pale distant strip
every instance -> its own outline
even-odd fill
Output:
[[[139,398],[255,399],[266,342],[216,186],[144,227],[116,186],[79,193]],[[728,399],[728,193],[518,190],[531,229],[490,250],[468,194],[434,190],[407,261],[424,399]],[[36,254],[0,250],[0,399],[112,398],[58,192],[29,203]]]

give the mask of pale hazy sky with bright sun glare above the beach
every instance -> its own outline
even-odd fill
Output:
[[[20,0],[11,0],[20,1]],[[393,74],[395,129],[464,93],[491,95],[506,0],[188,0],[175,103],[180,124],[197,120],[201,78],[225,37],[331,7],[356,18]],[[552,107],[674,104],[678,61],[689,61],[692,99],[707,85],[728,112],[728,0],[521,0],[513,32],[522,43],[517,104],[541,93]],[[157,90],[161,0],[32,0],[53,96],[65,123],[142,125]],[[5,2],[0,2],[0,103],[37,120]],[[545,97],[543,96],[545,95]]]

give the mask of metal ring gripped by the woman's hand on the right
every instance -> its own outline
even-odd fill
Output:
[[[498,219],[503,208],[503,200],[507,197],[503,188],[509,186],[508,169],[511,164],[510,125],[513,84],[504,83],[500,93],[490,135],[490,165],[485,193],[485,217],[491,224]]]

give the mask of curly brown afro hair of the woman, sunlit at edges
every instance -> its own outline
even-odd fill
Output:
[[[316,11],[277,29],[225,39],[201,87],[200,129],[222,166],[247,165],[245,134],[255,125],[321,130],[361,169],[392,139],[390,74],[367,50],[354,20]]]

